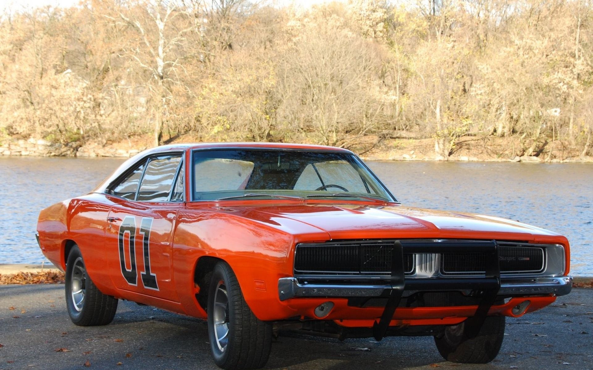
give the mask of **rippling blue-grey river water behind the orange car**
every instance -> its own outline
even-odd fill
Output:
[[[0,263],[41,263],[42,208],[95,188],[125,159],[0,157]],[[572,275],[593,275],[593,165],[387,162],[368,165],[404,205],[496,215],[571,244]]]

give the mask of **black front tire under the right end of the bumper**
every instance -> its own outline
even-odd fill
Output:
[[[436,348],[447,361],[487,363],[495,359],[505,337],[505,316],[486,317],[476,337],[467,335],[465,321],[435,336]]]

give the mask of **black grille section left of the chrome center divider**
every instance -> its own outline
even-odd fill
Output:
[[[297,274],[390,274],[391,243],[299,244],[295,254]],[[413,255],[404,255],[404,269],[413,271]]]

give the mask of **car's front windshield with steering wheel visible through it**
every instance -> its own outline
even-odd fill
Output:
[[[360,198],[394,201],[350,153],[232,149],[193,152],[193,199]]]

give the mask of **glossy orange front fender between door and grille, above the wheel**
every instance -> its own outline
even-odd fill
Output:
[[[195,294],[197,260],[210,256],[225,260],[237,275],[251,311],[260,320],[286,317],[288,305],[278,297],[278,279],[292,276],[294,245],[327,240],[313,226],[293,234],[273,224],[216,211],[180,211],[173,242],[173,271],[181,304],[190,316],[205,317]]]

